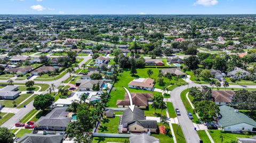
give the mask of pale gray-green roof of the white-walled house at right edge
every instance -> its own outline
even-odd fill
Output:
[[[249,116],[243,113],[235,112],[235,109],[226,105],[220,106],[221,119],[219,119],[219,124],[222,127],[228,127],[230,125],[247,123],[256,127],[256,122]]]

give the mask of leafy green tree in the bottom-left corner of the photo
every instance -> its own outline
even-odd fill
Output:
[[[0,142],[12,143],[14,134],[5,127],[0,127]]]

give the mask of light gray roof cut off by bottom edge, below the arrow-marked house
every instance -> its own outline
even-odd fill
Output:
[[[149,136],[146,133],[141,133],[137,136],[131,137],[130,143],[159,143],[159,139],[153,136]]]

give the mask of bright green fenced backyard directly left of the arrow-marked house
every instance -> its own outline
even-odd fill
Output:
[[[99,133],[117,133],[119,119],[119,116],[102,119]]]

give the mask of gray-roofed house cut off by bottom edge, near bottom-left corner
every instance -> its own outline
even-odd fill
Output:
[[[64,140],[63,134],[39,134],[26,133],[16,143],[40,142],[40,143],[62,143]]]

